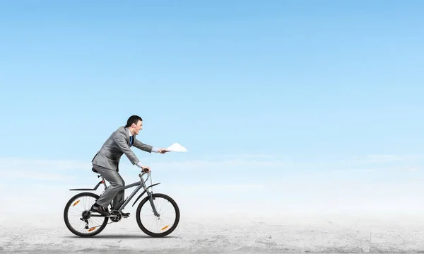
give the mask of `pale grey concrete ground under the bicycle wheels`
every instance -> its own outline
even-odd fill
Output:
[[[182,217],[165,238],[134,214],[93,238],[58,215],[0,219],[0,253],[424,253],[423,239],[424,216],[406,214]]]

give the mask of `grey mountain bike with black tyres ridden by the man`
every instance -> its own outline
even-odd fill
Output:
[[[83,188],[83,189],[69,189],[69,190],[97,190],[101,184],[103,184],[106,189],[107,185],[105,182],[105,178],[103,178],[102,175],[100,175],[100,173],[98,173],[98,171],[95,170],[95,168],[92,168],[92,171],[98,174],[98,178],[100,177],[102,178],[102,180],[97,185],[95,185],[93,189]],[[137,224],[139,225],[139,228],[148,236],[152,236],[152,237],[163,237],[172,233],[172,231],[174,231],[177,228],[177,225],[179,223],[179,207],[177,206],[177,203],[175,202],[175,200],[173,200],[168,195],[165,195],[162,193],[153,193],[153,189],[149,190],[149,188],[152,188],[153,186],[158,185],[160,183],[151,184],[146,187],[146,181],[148,180],[148,178],[151,178],[151,173],[148,173],[148,177],[146,178],[146,180],[143,180],[144,174],[146,173],[139,173],[139,177],[140,177],[139,182],[131,183],[130,185],[125,185],[122,187],[122,189],[125,190],[130,187],[137,186],[136,189],[131,193],[131,195],[129,195],[129,197],[126,197],[124,204],[122,204],[122,206],[119,207],[119,209],[117,210],[113,209],[112,202],[110,203],[110,211],[111,211],[110,215],[90,212],[91,206],[100,197],[99,195],[96,195],[93,192],[81,192],[71,197],[71,199],[66,203],[65,209],[64,209],[64,221],[65,221],[66,227],[69,229],[69,231],[71,231],[76,236],[90,237],[90,236],[97,235],[98,233],[103,231],[103,229],[105,229],[107,224],[117,223],[121,221],[122,218],[127,218],[124,214],[122,214],[122,209],[124,209],[126,207],[126,204],[128,204],[129,201],[136,195],[136,193],[139,192],[141,188],[143,188],[144,189],[143,192],[141,192],[141,195],[139,195],[139,197],[137,197],[136,201],[134,202],[134,204],[136,204],[136,202],[144,195],[144,193],[147,193],[147,197],[144,197],[144,199],[141,200],[136,210],[136,221],[137,221]],[[90,199],[91,201],[90,200],[87,201],[86,198]],[[160,199],[163,199],[164,201],[158,202],[158,200]],[[134,204],[132,205],[133,207],[134,207]],[[150,204],[150,206],[148,204]],[[167,217],[167,216],[164,216],[163,214],[159,214],[160,212],[165,212],[163,211],[164,209],[159,206],[159,204],[171,204],[169,209],[171,209],[170,212],[174,213],[174,216]],[[75,211],[74,209],[78,209],[78,211]],[[148,210],[147,213],[144,212],[142,215],[141,214],[143,212],[142,209],[147,209]],[[151,219],[150,222],[152,222],[153,224],[153,222],[156,221],[155,225],[159,226],[160,230],[158,230],[158,232],[152,231],[152,229],[148,229],[146,222],[143,223],[142,219],[145,219],[146,217],[148,217],[149,214],[153,215],[153,219]],[[70,215],[75,215],[76,217],[79,217],[78,219],[76,219],[76,221],[78,222],[77,228],[74,228],[73,226],[71,226],[71,221],[72,222],[74,221],[69,218]],[[168,218],[174,218],[174,219],[170,219],[171,223],[167,223]],[[93,224],[95,226],[92,226],[93,224],[89,225],[88,221],[91,221],[90,219],[94,221]],[[108,223],[109,219],[112,222]],[[79,231],[79,229],[81,229],[81,221],[85,223],[85,226],[82,225],[82,230]]]

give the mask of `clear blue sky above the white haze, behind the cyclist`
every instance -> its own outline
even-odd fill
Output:
[[[423,203],[422,1],[0,3],[4,186],[90,185],[91,158],[136,114],[142,142],[189,150],[134,149],[181,200],[196,183],[211,200],[235,184],[245,204],[252,184],[294,206],[314,201],[294,190],[343,187],[356,207]],[[365,183],[393,193],[346,187]]]

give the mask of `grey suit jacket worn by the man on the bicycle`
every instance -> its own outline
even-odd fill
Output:
[[[133,140],[132,146],[149,153],[152,152],[153,146],[141,143],[136,139],[136,135],[133,136]],[[95,165],[119,171],[119,161],[122,154],[125,154],[133,165],[139,163],[139,158],[130,149],[129,131],[124,126],[119,127],[110,135],[100,151],[95,154],[92,162]]]

